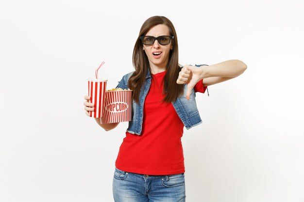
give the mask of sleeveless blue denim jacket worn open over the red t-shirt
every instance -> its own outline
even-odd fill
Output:
[[[201,66],[201,65],[196,65]],[[119,81],[116,88],[128,89],[128,81],[129,78],[132,76],[133,72],[126,74],[122,77]],[[129,122],[129,127],[127,131],[131,134],[140,135],[142,129],[142,122],[143,122],[143,109],[144,109],[144,102],[146,95],[150,89],[151,85],[151,74],[148,69],[148,73],[146,76],[146,81],[141,87],[139,93],[139,103],[136,103],[134,100],[132,101],[132,121]],[[184,94],[177,97],[175,102],[172,102],[174,109],[176,110],[178,116],[182,120],[183,124],[185,125],[186,129],[189,129],[193,126],[202,123],[202,119],[200,117],[199,111],[196,106],[195,101],[195,92],[192,89],[190,94],[190,99],[186,99],[186,91],[187,85],[184,84]]]

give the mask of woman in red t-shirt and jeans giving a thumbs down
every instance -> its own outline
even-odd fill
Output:
[[[230,60],[214,65],[178,64],[175,29],[164,16],[147,19],[133,52],[135,72],[118,88],[133,90],[132,121],[116,160],[115,202],[185,202],[183,128],[201,124],[195,93],[235,78],[247,66]],[[86,114],[94,110],[85,96]],[[100,124],[106,131],[115,124]]]

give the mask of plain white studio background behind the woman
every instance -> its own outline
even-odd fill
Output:
[[[304,202],[303,0],[1,0],[0,201],[112,202],[127,123],[84,113],[88,77],[133,71],[142,23],[167,16],[180,63],[245,62],[197,95],[187,202]]]

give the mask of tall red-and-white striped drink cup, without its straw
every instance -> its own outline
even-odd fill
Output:
[[[90,111],[91,117],[100,118],[102,115],[107,81],[106,78],[88,78],[90,103],[95,105],[94,111]]]

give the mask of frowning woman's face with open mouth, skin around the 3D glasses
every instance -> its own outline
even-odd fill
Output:
[[[167,25],[156,25],[152,27],[145,36],[169,36],[169,28]],[[143,49],[148,56],[150,68],[164,69],[169,61],[170,49],[172,49],[172,40],[168,45],[160,45],[157,40],[152,45],[143,45]]]

